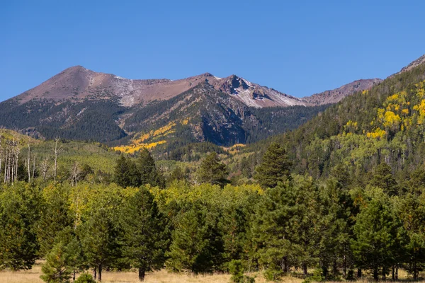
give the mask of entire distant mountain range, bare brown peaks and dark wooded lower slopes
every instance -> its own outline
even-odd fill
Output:
[[[101,141],[127,152],[197,141],[231,146],[295,129],[330,103],[380,81],[358,80],[295,98],[236,75],[139,80],[76,66],[0,103],[0,125],[45,139]]]

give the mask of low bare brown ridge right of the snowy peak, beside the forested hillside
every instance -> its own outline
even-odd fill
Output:
[[[353,93],[358,91],[364,91],[369,89],[372,86],[380,83],[382,79],[361,79],[358,81],[353,81],[352,83],[347,83],[344,86],[335,88],[331,91],[324,91],[322,93],[316,93],[312,96],[307,96],[302,98],[309,105],[323,105],[329,103],[337,103],[339,100],[346,96],[350,96]]]

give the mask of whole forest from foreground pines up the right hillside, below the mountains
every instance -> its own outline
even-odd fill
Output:
[[[420,279],[424,80],[422,64],[292,132],[186,145],[174,160],[0,129],[0,268],[43,259],[45,282],[163,268],[232,282]]]

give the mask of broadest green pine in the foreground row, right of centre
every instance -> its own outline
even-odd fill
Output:
[[[322,207],[319,188],[312,179],[297,177],[266,190],[252,222],[257,258],[263,267],[288,272],[291,266],[307,267],[319,260],[322,241]]]

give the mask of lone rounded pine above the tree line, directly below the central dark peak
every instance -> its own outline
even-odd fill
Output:
[[[224,187],[229,183],[227,175],[226,165],[220,162],[220,158],[215,152],[208,154],[200,164],[198,172],[200,183],[210,183]]]

